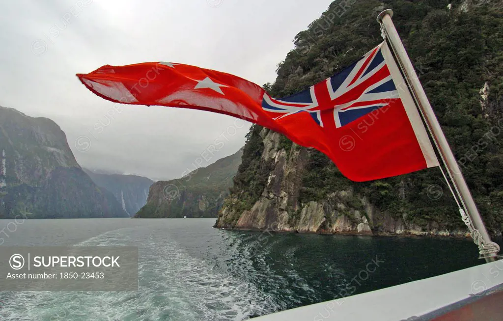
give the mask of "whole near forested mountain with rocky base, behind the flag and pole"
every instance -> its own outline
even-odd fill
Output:
[[[294,39],[272,96],[337,73],[382,41],[393,21],[492,234],[503,222],[501,1],[335,1]],[[323,154],[254,126],[216,227],[318,233],[464,234],[438,168],[357,183]]]

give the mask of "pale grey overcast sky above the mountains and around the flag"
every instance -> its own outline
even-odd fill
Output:
[[[75,73],[171,61],[260,85],[330,0],[44,0],[0,4],[0,105],[48,117],[82,167],[180,177],[244,144],[249,123],[203,111],[115,104]],[[201,154],[220,139],[212,157]],[[209,159],[208,159],[209,158]],[[202,161],[201,161],[202,159]]]

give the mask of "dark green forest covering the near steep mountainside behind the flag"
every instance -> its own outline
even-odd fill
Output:
[[[276,97],[306,89],[348,66],[382,41],[376,22],[383,9],[393,21],[430,98],[487,227],[503,223],[503,8],[500,1],[335,1],[300,32],[296,48],[278,64],[264,88]],[[352,5],[348,5],[352,4]],[[452,4],[452,9],[448,5]],[[334,14],[335,13],[335,14]],[[481,90],[485,87],[485,90]],[[483,94],[483,96],[482,96]],[[267,182],[261,164],[259,126],[250,131],[243,165],[232,188],[231,210],[253,206]],[[291,144],[281,140],[287,151]],[[432,221],[462,227],[438,168],[373,182],[349,181],[321,153],[309,150],[299,201],[325,199],[352,188],[380,210],[407,216],[420,226]],[[431,194],[432,186],[436,189]],[[237,201],[239,200],[239,201]],[[361,205],[360,205],[361,206]]]

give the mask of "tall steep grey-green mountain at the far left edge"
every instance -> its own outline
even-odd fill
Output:
[[[53,121],[0,107],[0,218],[127,217],[82,171]]]

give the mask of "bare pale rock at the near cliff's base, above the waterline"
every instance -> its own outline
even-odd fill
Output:
[[[262,141],[260,167],[270,169],[264,189],[253,205],[244,210],[239,205],[245,190],[232,193],[219,212],[215,227],[361,235],[466,234],[464,229],[442,230],[435,223],[420,227],[406,217],[394,217],[356,193],[350,182],[340,190],[333,190],[324,199],[303,201],[303,180],[315,157],[313,153],[317,152],[296,144],[291,144],[287,152],[282,148],[284,138],[280,134],[258,126],[255,131],[259,129],[260,134],[254,133],[251,139]],[[248,152],[247,146],[244,151]],[[333,175],[337,175],[336,172],[335,169]],[[323,182],[320,180],[319,183]]]

